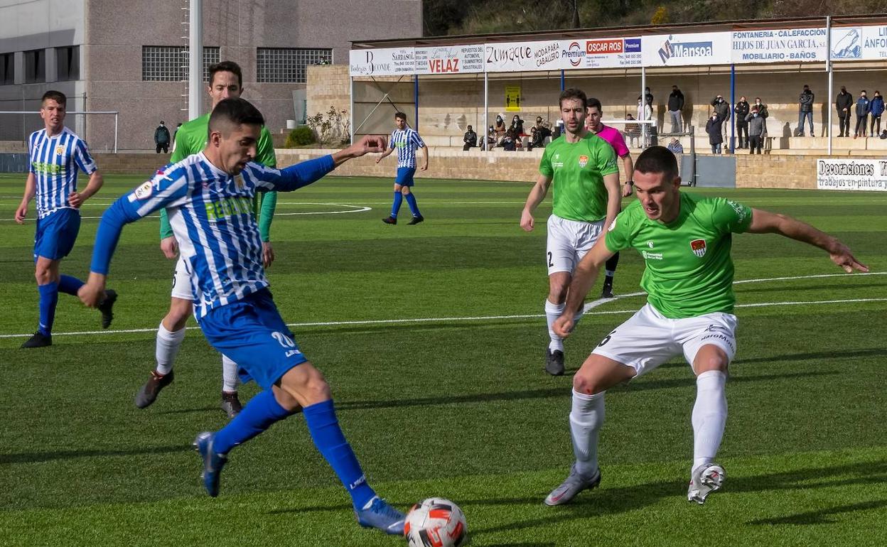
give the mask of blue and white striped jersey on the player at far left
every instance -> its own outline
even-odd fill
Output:
[[[31,133],[27,140],[30,171],[36,179],[37,218],[64,208],[74,208],[67,196],[77,190],[77,169],[92,175],[98,169],[90,149],[71,129],[46,137],[46,129]]]

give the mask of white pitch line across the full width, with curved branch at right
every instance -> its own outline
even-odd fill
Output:
[[[734,281],[734,285],[738,285],[740,283],[764,283],[766,281],[784,281],[791,279],[812,279],[819,277],[842,277],[848,276],[851,274],[819,274],[812,276],[794,276],[794,277],[765,277],[760,279],[742,279],[740,281]],[[873,271],[868,273],[859,273],[855,274],[855,276],[883,276],[887,275],[887,271]],[[591,301],[585,304],[585,312],[586,315],[589,316],[607,316],[607,315],[616,315],[616,314],[626,314],[626,313],[634,313],[637,309],[614,309],[608,311],[590,311],[591,309],[597,308],[603,304],[608,302],[615,302],[619,299],[623,298],[631,298],[633,296],[643,296],[646,293],[627,293],[627,294],[619,294],[613,298],[601,298],[596,301]],[[855,302],[884,302],[887,301],[887,298],[854,298],[848,300],[830,300],[830,301],[788,301],[788,302],[757,302],[752,304],[737,304],[736,308],[762,308],[765,306],[801,306],[801,305],[824,305],[824,304],[844,304],[844,303],[855,303]],[[464,317],[417,317],[413,319],[365,319],[360,321],[320,321],[313,323],[287,323],[287,326],[291,327],[307,327],[307,326],[347,326],[347,325],[359,325],[359,324],[404,324],[404,323],[445,323],[448,321],[491,321],[496,319],[535,319],[538,317],[544,317],[545,314],[522,314],[522,315],[511,315],[511,316],[464,316]],[[200,327],[192,326],[185,327],[189,331],[194,329],[199,329]],[[150,329],[123,329],[116,331],[79,331],[79,332],[53,332],[53,336],[82,336],[82,335],[91,335],[91,334],[128,334],[133,332],[154,332],[157,330],[157,327],[152,327]],[[32,333],[27,334],[0,334],[0,339],[4,338],[27,338],[32,336]]]

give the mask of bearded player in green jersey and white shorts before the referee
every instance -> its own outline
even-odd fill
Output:
[[[559,99],[564,133],[546,146],[539,163],[539,177],[521,214],[521,228],[531,231],[533,211],[552,188],[553,212],[548,218],[546,265],[548,298],[546,319],[551,341],[546,348],[546,371],[563,374],[563,339],[552,325],[564,311],[567,288],[577,263],[592,248],[604,226],[619,213],[619,168],[616,152],[600,137],[585,128],[588,99],[582,90],[565,90]],[[569,308],[576,321],[583,313],[583,302]]]

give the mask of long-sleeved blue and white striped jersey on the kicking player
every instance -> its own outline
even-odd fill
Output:
[[[291,191],[334,168],[325,156],[278,170],[247,163],[231,176],[203,152],[157,171],[102,216],[91,270],[107,273],[122,224],[166,207],[179,252],[191,274],[194,316],[268,286],[253,198],[258,191]]]

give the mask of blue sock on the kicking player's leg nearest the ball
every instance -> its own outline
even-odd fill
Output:
[[[318,402],[305,407],[302,411],[314,446],[318,447],[326,462],[333,467],[333,471],[348,490],[354,506],[363,509],[376,493],[366,483],[366,477],[360,469],[357,457],[345,440],[345,435],[341,433],[333,401]]]

